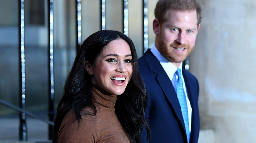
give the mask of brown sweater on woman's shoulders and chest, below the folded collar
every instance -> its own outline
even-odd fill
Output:
[[[88,111],[92,111],[92,109],[84,108],[81,111],[79,126],[75,111],[70,110],[61,123],[58,142],[106,142],[112,140],[113,142],[129,143],[129,138],[117,117],[106,112],[105,108],[102,109],[96,105],[96,109],[96,115],[89,115]]]

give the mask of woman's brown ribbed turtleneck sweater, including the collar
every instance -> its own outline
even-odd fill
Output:
[[[77,119],[73,109],[64,117],[58,135],[59,143],[130,143],[116,114],[115,103],[117,95],[109,95],[101,88],[94,86],[92,89],[92,101],[97,114],[83,115],[83,112],[92,111],[84,108],[81,112],[77,128]]]

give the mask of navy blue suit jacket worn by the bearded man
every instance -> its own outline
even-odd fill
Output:
[[[151,143],[186,143],[186,130],[181,107],[171,80],[158,59],[149,50],[139,58],[139,70],[148,92],[145,118],[151,130]],[[192,107],[190,143],[199,136],[199,85],[195,76],[182,69],[187,95]],[[145,129],[142,142],[147,142]]]

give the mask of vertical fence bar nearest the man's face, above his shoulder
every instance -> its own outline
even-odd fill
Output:
[[[143,0],[143,39],[145,53],[148,49],[148,0]]]

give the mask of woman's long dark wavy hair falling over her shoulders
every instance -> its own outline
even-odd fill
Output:
[[[131,142],[141,142],[143,126],[146,127],[148,138],[150,138],[149,127],[144,118],[147,93],[140,76],[135,46],[129,37],[119,31],[102,30],[90,35],[77,53],[64,85],[64,95],[58,104],[54,122],[53,143],[57,143],[61,122],[71,108],[75,110],[78,126],[81,119],[80,112],[84,107],[91,107],[94,113],[88,114],[96,115],[96,107],[92,103],[91,76],[86,72],[84,62],[89,61],[94,64],[103,48],[109,42],[119,38],[125,40],[130,46],[133,74],[124,93],[117,96],[115,112]]]

